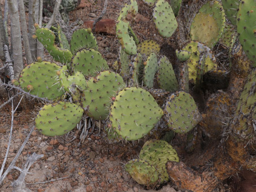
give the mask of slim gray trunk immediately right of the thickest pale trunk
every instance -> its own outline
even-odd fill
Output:
[[[22,31],[22,37],[23,37],[23,44],[25,48],[27,64],[31,64],[33,60],[32,60],[32,55],[31,55],[29,41],[28,41],[28,28],[27,28],[27,22],[26,22],[26,16],[25,16],[24,2],[23,0],[19,0],[19,1],[20,1],[19,2],[20,25],[21,25],[21,31]]]

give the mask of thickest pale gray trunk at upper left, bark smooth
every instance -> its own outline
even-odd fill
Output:
[[[23,69],[23,58],[18,2],[17,0],[8,0],[7,2],[11,21],[11,40],[15,42],[13,44],[14,75],[19,76],[19,73]]]

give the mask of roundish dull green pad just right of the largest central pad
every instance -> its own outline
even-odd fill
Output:
[[[187,133],[201,120],[192,96],[184,91],[173,93],[165,106],[167,125],[176,133]]]

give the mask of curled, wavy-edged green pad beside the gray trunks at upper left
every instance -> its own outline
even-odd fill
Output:
[[[55,35],[50,29],[38,28],[36,25],[36,38],[57,62],[66,64],[71,61],[72,53],[55,45]]]

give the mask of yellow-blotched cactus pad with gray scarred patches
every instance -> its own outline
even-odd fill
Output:
[[[201,73],[206,73],[217,68],[215,56],[212,54],[212,51],[209,47],[199,43],[197,41],[190,41],[183,50],[190,52],[190,58],[188,59],[188,71],[189,71],[189,80],[193,84],[197,84],[199,80],[198,76],[201,76]],[[202,62],[200,58],[203,58]]]

